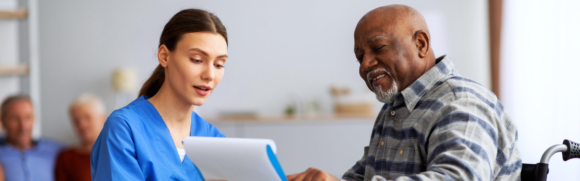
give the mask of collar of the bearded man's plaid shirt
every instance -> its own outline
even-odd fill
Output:
[[[438,57],[434,67],[421,75],[415,82],[395,95],[393,105],[405,103],[409,112],[413,111],[421,97],[429,91],[441,78],[453,74],[454,64],[447,55]]]

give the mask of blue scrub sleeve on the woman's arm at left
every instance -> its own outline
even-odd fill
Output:
[[[92,180],[145,180],[131,128],[122,118],[107,118],[92,149],[90,171]]]

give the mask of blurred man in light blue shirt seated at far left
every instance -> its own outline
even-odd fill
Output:
[[[0,139],[0,164],[8,181],[54,180],[59,143],[32,139],[34,108],[28,96],[10,96],[2,102],[0,119],[6,137]]]

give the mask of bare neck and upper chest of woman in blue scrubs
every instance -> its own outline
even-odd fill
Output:
[[[164,82],[155,96],[148,101],[153,104],[168,126],[191,121],[194,105],[177,95],[168,82]]]

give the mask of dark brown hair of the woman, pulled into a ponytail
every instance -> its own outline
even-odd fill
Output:
[[[226,27],[223,26],[218,16],[202,9],[184,9],[173,15],[167,24],[165,24],[161,32],[161,38],[159,38],[159,46],[165,45],[169,51],[173,51],[175,50],[177,42],[182,39],[183,34],[188,32],[213,32],[220,34],[226,39],[227,45]],[[164,81],[165,68],[160,64],[153,70],[151,77],[141,87],[139,96],[145,95],[147,97],[153,97],[159,91]]]

